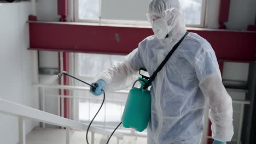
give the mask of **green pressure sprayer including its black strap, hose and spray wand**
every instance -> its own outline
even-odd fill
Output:
[[[188,32],[186,32],[184,34],[184,36],[182,37],[182,39],[179,40],[178,43],[173,46],[172,50],[168,53],[168,55],[166,56],[164,61],[159,65],[158,69],[155,70],[155,72],[153,73],[152,76],[147,77],[147,76],[144,76],[141,74],[141,70],[147,71],[147,69],[139,70],[139,74],[142,77],[139,77],[138,80],[136,80],[133,83],[132,89],[129,92],[129,95],[127,97],[127,101],[125,104],[125,109],[124,109],[123,116],[122,116],[122,122],[120,122],[118,124],[118,126],[114,129],[113,133],[109,136],[107,143],[109,142],[111,136],[114,134],[115,130],[117,130],[118,127],[122,123],[125,128],[133,128],[139,132],[143,131],[144,129],[146,129],[148,127],[148,122],[149,122],[149,119],[151,116],[151,94],[150,94],[150,91],[148,90],[148,88],[149,88],[149,86],[152,86],[152,82],[154,81],[156,75],[162,69],[162,67],[164,67],[165,63],[172,56],[173,52],[177,49],[179,44],[182,43],[182,41],[186,35],[188,35]],[[77,77],[69,75],[66,71],[62,71],[62,73],[58,74],[57,77],[60,78],[63,75],[70,76],[80,82],[85,83],[86,85],[91,86],[92,91],[95,91],[95,89],[97,88],[97,84],[90,85],[89,83],[87,83],[85,81],[77,79]],[[141,83],[140,88],[134,87],[135,83],[138,81]],[[102,91],[104,92],[103,89],[102,89]],[[105,100],[105,92],[103,93],[102,104],[101,104],[100,108],[98,109],[98,111],[96,112],[96,115],[94,116],[94,118],[92,118],[92,120],[88,126],[88,129],[86,131],[86,142],[88,144],[89,144],[89,142],[88,142],[89,128],[90,128],[92,122],[94,121],[95,117],[97,116],[98,112],[100,112],[101,107],[104,103],[104,100]]]

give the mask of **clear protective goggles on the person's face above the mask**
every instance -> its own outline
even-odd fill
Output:
[[[159,19],[159,18],[168,18],[168,19],[171,19],[171,17],[177,12],[177,8],[170,8],[170,9],[167,9],[161,13],[148,13],[146,14],[147,16],[147,19],[149,22],[153,22],[155,21],[156,19]]]

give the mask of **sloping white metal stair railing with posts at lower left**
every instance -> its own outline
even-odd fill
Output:
[[[71,119],[63,118],[60,116],[53,115],[48,112],[33,109],[32,107],[27,107],[18,103],[13,103],[8,100],[0,99],[0,113],[5,113],[7,115],[13,115],[19,117],[19,141],[20,144],[26,143],[26,133],[25,133],[25,121],[24,118],[32,119],[33,121],[49,123],[53,125],[58,125],[61,127],[66,127],[66,144],[70,143],[70,129],[77,130],[87,130],[88,125],[80,122],[72,121]],[[106,131],[96,127],[90,127],[92,138],[95,133],[102,135],[111,135],[111,131]],[[123,139],[122,134],[115,133],[113,136],[117,137],[119,140]],[[91,143],[94,144],[94,139],[91,139]]]

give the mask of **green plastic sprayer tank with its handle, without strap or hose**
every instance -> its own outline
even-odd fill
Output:
[[[146,71],[145,69],[141,69]],[[141,74],[139,70],[139,74]],[[141,83],[141,87],[134,87],[135,83]],[[129,92],[125,109],[123,112],[122,122],[125,128],[133,128],[141,132],[148,127],[148,121],[151,111],[151,95],[148,87],[144,87],[149,81],[149,77],[139,77],[133,83],[132,89]],[[150,85],[151,86],[151,83]]]

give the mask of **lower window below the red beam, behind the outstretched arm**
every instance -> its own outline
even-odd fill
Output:
[[[120,55],[100,55],[92,53],[75,53],[75,77],[85,80],[86,82],[94,82],[94,77],[103,70],[108,69],[117,62],[124,61],[125,56]],[[138,75],[139,76],[139,75]],[[89,88],[87,85],[79,81],[74,81],[76,86]],[[131,88],[131,87],[130,87]],[[113,130],[121,121],[125,102],[128,96],[129,89],[124,89],[125,92],[106,92],[106,99],[101,111],[98,113],[92,125],[104,129]],[[76,99],[74,102],[75,120],[89,124],[94,117],[98,108],[102,103],[102,96],[95,97],[88,91],[75,91],[75,97],[83,98]],[[120,130],[120,129],[119,129]],[[131,130],[121,129],[122,133],[130,133]],[[140,133],[146,135],[146,132]]]

